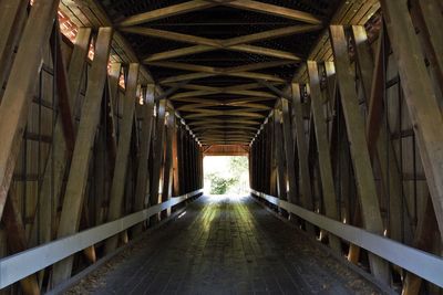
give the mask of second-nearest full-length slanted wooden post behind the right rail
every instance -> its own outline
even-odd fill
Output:
[[[320,183],[323,194],[326,215],[338,220],[337,196],[333,186],[331,157],[329,154],[328,129],[323,109],[321,105],[320,77],[318,73],[317,62],[308,61],[309,87],[311,91],[311,110],[315,124],[317,151],[319,159]],[[296,101],[298,101],[296,98]],[[300,155],[301,157],[301,155]],[[308,158],[307,156],[303,156]],[[337,236],[330,235],[330,246],[337,253],[341,253],[340,240]]]

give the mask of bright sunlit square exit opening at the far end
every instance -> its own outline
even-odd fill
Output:
[[[248,157],[206,156],[205,194],[230,197],[247,196],[249,191]]]

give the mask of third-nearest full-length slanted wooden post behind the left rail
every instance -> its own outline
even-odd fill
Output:
[[[151,152],[151,141],[152,141],[152,129],[153,129],[153,118],[154,118],[154,96],[155,96],[155,85],[151,84],[146,88],[146,98],[144,105],[141,107],[143,110],[143,122],[142,122],[142,137],[140,146],[140,157],[138,157],[138,168],[137,168],[137,182],[135,186],[135,202],[134,211],[141,211],[145,208],[148,199],[150,191],[150,167],[148,159]],[[141,233],[143,225],[138,224],[134,226],[134,235]]]

